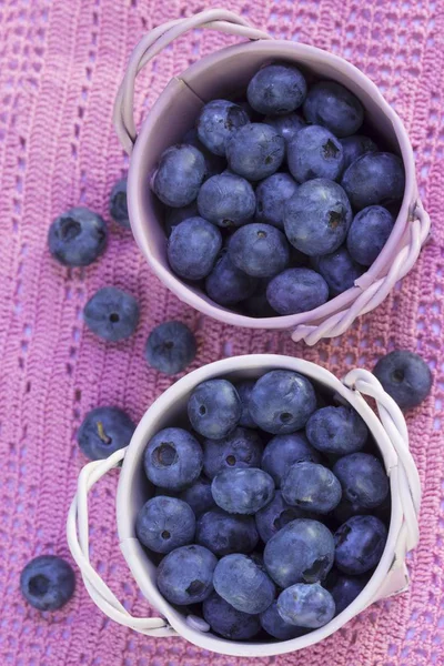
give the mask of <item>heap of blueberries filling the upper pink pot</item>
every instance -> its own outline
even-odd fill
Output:
[[[363,127],[350,90],[309,85],[285,63],[259,70],[246,101],[205,104],[151,179],[172,271],[256,317],[306,312],[352,287],[387,241],[405,186],[402,160]]]

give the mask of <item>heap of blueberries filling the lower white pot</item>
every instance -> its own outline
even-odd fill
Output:
[[[188,420],[143,458],[155,494],[135,532],[160,593],[233,640],[329,623],[387,536],[389,480],[363,420],[286,370],[203,382]]]

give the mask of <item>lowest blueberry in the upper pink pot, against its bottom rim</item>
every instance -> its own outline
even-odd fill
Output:
[[[287,269],[270,281],[266,297],[279,314],[297,314],[325,303],[329,285],[316,271]]]

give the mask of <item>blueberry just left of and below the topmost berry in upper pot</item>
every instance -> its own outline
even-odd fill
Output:
[[[211,152],[224,155],[228,139],[248,122],[248,114],[234,102],[213,100],[203,107],[199,115],[199,139]]]

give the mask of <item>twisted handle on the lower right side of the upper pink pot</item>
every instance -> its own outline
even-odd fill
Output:
[[[416,262],[421,248],[425,243],[431,228],[427,212],[420,200],[416,201],[410,216],[408,232],[400,252],[393,259],[389,272],[369,286],[361,286],[356,280],[355,286],[362,293],[346,310],[341,310],[317,325],[300,324],[292,333],[292,340],[305,340],[306,344],[316,344],[322,337],[336,337],[350,329],[354,320],[374,310],[392,291],[398,280],[404,278]]]

